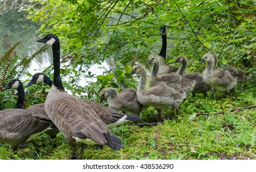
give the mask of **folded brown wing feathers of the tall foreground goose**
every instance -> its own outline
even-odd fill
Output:
[[[76,137],[93,139],[98,144],[107,143],[105,134],[109,129],[85,101],[65,96],[46,106],[46,112],[68,141]]]

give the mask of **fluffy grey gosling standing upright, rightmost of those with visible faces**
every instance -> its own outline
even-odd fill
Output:
[[[237,84],[237,77],[233,77],[228,70],[214,69],[214,58],[210,52],[205,53],[201,63],[207,61],[207,66],[203,72],[204,83],[210,85],[215,90],[229,93]]]

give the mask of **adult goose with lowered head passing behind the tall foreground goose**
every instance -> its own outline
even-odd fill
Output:
[[[30,82],[28,82],[28,84],[26,85],[26,87],[39,83],[44,83],[49,85],[49,87],[52,87],[52,80],[41,72],[34,74]],[[118,127],[126,121],[138,122],[139,120],[141,120],[141,118],[137,115],[119,113],[115,109],[107,108],[106,106],[94,101],[83,101],[85,101],[85,103],[88,104],[99,115],[99,117],[102,119],[102,121],[105,123],[105,125],[107,125],[109,129]]]

